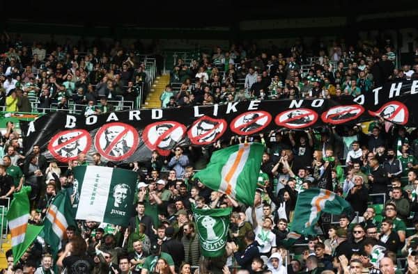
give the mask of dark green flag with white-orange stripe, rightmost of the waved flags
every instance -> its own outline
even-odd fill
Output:
[[[314,225],[321,212],[340,215],[353,213],[351,205],[339,195],[323,188],[309,188],[297,195],[292,231],[302,235],[316,235]]]

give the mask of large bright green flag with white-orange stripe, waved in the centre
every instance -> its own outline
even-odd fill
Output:
[[[252,206],[263,152],[261,143],[244,143],[218,150],[212,154],[208,166],[194,178],[208,188]]]

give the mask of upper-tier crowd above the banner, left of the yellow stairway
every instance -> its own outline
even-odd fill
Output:
[[[0,106],[6,111],[66,111],[75,104],[84,115],[104,113],[113,109],[108,99],[137,102],[150,81],[134,45],[125,49],[116,42],[79,52],[54,40],[26,45],[20,36],[1,38]]]

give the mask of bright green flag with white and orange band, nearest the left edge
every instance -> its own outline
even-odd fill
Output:
[[[29,193],[30,186],[24,186],[13,195],[7,213],[8,226],[12,234],[12,252],[15,263],[19,261],[29,245],[36,239],[43,226],[29,225]]]

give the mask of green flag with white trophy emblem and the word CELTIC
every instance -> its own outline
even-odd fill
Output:
[[[229,216],[232,208],[196,209],[192,207],[197,233],[201,244],[201,255],[219,257],[224,254],[228,236]]]

